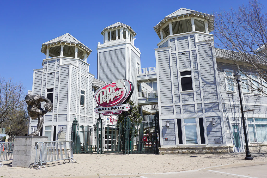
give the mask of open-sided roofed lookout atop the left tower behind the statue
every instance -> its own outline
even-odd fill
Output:
[[[87,62],[87,57],[91,54],[92,50],[71,34],[66,33],[43,43],[41,52],[46,55],[46,59],[49,57],[70,57],[79,58]]]

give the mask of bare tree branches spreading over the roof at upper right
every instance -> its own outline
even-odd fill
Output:
[[[246,79],[243,83],[249,85],[250,90],[267,94],[267,13],[264,6],[257,0],[250,0],[248,6],[241,5],[238,11],[231,8],[214,13],[214,35],[218,39],[216,46],[222,48],[217,48],[217,52],[233,59]]]

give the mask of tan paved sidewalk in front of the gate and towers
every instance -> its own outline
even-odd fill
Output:
[[[215,155],[122,155],[75,154],[77,163],[48,163],[46,169],[12,167],[4,161],[1,177],[134,177],[138,175],[240,167],[267,163],[267,152],[251,153],[254,160],[244,160],[245,153]]]

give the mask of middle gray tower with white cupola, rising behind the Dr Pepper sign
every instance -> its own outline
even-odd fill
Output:
[[[97,78],[104,82],[130,80],[134,85],[132,100],[137,105],[137,68],[140,68],[140,50],[134,46],[135,31],[117,22],[101,32],[103,44],[97,44]]]

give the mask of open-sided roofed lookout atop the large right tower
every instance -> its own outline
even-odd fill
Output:
[[[162,19],[154,30],[161,41],[169,35],[190,31],[209,33],[213,31],[213,15],[180,8]]]

